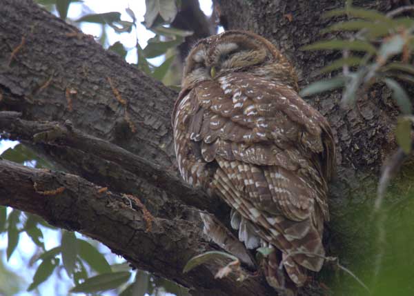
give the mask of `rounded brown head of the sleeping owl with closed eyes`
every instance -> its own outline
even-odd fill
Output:
[[[198,41],[188,54],[182,88],[229,72],[250,72],[297,90],[297,76],[270,41],[257,34],[231,30]]]

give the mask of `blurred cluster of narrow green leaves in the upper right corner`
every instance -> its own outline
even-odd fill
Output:
[[[361,92],[375,83],[382,83],[392,91],[392,97],[402,115],[413,112],[410,97],[402,81],[414,83],[414,67],[410,65],[414,49],[414,19],[395,17],[376,10],[352,6],[326,12],[325,18],[348,16],[348,21],[335,23],[322,32],[354,32],[351,39],[317,41],[303,50],[342,50],[343,57],[325,66],[326,73],[342,68],[332,79],[315,81],[302,90],[302,96],[315,95],[326,90],[344,88],[342,104],[356,101]],[[397,143],[405,152],[411,151],[411,121],[399,119],[396,128]]]

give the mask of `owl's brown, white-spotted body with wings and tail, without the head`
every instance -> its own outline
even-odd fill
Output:
[[[282,255],[297,253],[284,264],[297,285],[300,266],[320,270],[323,259],[308,253],[324,255],[335,149],[317,110],[289,86],[234,72],[181,92],[172,123],[188,183],[213,188]]]

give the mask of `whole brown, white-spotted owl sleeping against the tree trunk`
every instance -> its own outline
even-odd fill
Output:
[[[331,127],[297,92],[270,41],[232,30],[195,44],[172,113],[181,176],[226,201],[247,248],[274,249],[262,268],[275,288],[322,268],[335,171]]]

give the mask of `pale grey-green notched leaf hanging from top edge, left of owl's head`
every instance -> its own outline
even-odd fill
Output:
[[[147,28],[151,28],[158,14],[166,23],[172,23],[177,15],[175,0],[146,0],[146,12],[144,21]]]

